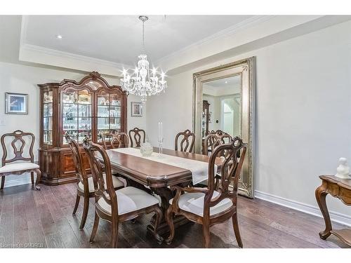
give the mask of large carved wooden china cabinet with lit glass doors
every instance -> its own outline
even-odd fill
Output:
[[[81,144],[84,137],[102,144],[102,135],[112,130],[126,132],[126,91],[110,86],[98,72],[81,81],[39,84],[39,165],[44,184],[74,182],[75,170],[65,133]],[[84,167],[89,164],[84,153]]]

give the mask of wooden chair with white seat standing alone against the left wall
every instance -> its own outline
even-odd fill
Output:
[[[11,140],[10,145],[8,145],[8,140]],[[4,189],[6,175],[22,175],[24,173],[30,173],[32,184],[34,184],[34,173],[37,173],[37,180],[35,181],[34,187],[35,189],[40,190],[38,184],[41,178],[41,171],[37,163],[34,163],[34,141],[35,137],[33,133],[25,133],[22,130],[15,130],[13,133],[5,133],[1,136],[3,156],[0,168],[0,189]],[[27,149],[26,143],[29,144],[29,149]],[[13,157],[8,158],[8,150],[11,151],[11,148],[13,149]],[[25,153],[25,151],[27,151],[27,153]],[[29,156],[27,154],[29,154]],[[21,162],[14,163],[15,161]]]

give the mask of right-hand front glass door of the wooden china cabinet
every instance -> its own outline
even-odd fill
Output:
[[[97,96],[97,104],[98,142],[102,142],[102,134],[121,131],[121,99],[117,95],[101,93]]]

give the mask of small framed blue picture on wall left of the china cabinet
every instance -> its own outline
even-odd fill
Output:
[[[6,114],[28,114],[28,94],[6,93]]]

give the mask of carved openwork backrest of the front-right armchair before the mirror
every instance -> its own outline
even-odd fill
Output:
[[[242,142],[239,137],[234,137],[230,143],[220,144],[216,147],[208,161],[208,193],[204,198],[204,216],[209,216],[209,209],[218,204],[224,198],[230,198],[234,205],[237,203],[238,180],[241,173],[241,167],[244,163],[247,144]],[[213,197],[215,191],[215,163],[218,154],[225,151],[226,156],[220,166],[220,183],[218,191],[220,194]],[[240,157],[238,157],[240,156]],[[230,189],[232,183],[232,189]]]

